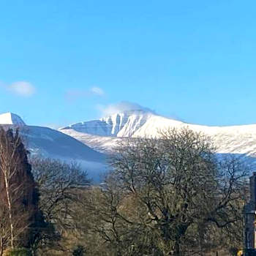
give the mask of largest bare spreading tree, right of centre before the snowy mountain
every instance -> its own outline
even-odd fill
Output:
[[[237,159],[219,161],[205,135],[170,129],[159,140],[128,139],[117,151],[112,167],[118,186],[143,206],[142,224],[159,234],[164,255],[192,255],[193,247],[203,253],[202,227],[228,228],[241,219],[246,171]]]

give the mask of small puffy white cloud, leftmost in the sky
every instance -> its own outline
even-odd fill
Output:
[[[36,92],[34,86],[26,81],[18,81],[12,83],[10,86],[4,87],[7,89],[7,91],[10,91],[12,94],[17,94],[22,97],[30,97]]]

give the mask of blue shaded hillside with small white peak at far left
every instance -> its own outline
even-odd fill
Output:
[[[22,118],[13,113],[1,114],[0,125],[4,129],[18,128],[31,156],[39,155],[66,162],[78,162],[94,180],[98,180],[99,173],[103,173],[106,169],[105,154],[95,151],[63,132],[48,127],[26,125]]]

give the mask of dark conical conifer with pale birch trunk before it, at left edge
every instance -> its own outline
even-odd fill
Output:
[[[0,129],[0,232],[5,238],[1,250],[31,246],[44,223],[27,154],[18,130]]]

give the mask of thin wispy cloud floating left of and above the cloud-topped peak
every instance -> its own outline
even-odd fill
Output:
[[[105,91],[99,87],[91,87],[90,89],[69,89],[66,91],[65,98],[69,101],[74,101],[81,97],[103,97],[105,95]]]

